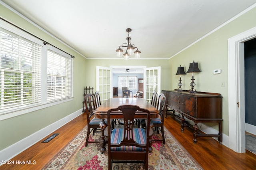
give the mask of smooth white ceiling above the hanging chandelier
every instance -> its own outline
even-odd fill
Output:
[[[86,58],[117,58],[115,50],[126,42],[126,28],[132,29],[131,42],[141,51],[141,58],[170,58],[256,3],[256,0],[2,2]]]

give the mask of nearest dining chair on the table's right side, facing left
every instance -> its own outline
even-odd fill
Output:
[[[162,133],[162,139],[152,140],[152,141],[163,141],[163,144],[165,144],[164,117],[166,114],[166,96],[163,93],[161,93],[158,97],[158,102],[157,102],[156,108],[159,111],[159,116],[158,116],[158,118],[150,119],[150,127],[151,128],[155,127],[157,134],[159,134],[159,130],[160,130]]]

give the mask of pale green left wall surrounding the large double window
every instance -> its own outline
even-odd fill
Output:
[[[0,16],[75,56],[73,58],[73,100],[0,121],[0,150],[2,150],[82,108],[83,88],[86,86],[86,58],[1,4]]]

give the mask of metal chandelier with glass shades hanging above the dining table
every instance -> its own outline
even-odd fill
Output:
[[[129,59],[130,55],[132,55],[133,53],[135,54],[136,58],[140,58],[140,51],[138,50],[137,47],[134,46],[134,44],[131,43],[131,39],[129,37],[129,33],[132,31],[131,28],[127,28],[126,32],[128,32],[128,37],[126,38],[126,43],[123,43],[123,45],[120,45],[118,49],[116,49],[116,55],[118,57],[121,57],[121,53],[124,51],[123,49],[121,49],[120,47],[126,47],[126,52],[124,53],[124,59]],[[127,45],[125,45],[127,44]],[[134,49],[136,48],[136,51],[134,51]]]

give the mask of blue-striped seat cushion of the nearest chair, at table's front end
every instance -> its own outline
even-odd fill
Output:
[[[133,128],[134,140],[139,144],[146,143],[146,131],[143,128]],[[111,143],[120,143],[124,138],[124,128],[114,128],[111,134]],[[122,151],[145,151],[146,148],[139,148],[136,146],[120,146],[112,147],[112,150]]]

